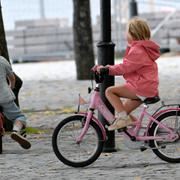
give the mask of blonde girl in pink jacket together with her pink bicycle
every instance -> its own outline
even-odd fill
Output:
[[[104,142],[108,139],[107,127],[114,130],[134,124],[119,131],[123,139],[133,142],[133,149],[152,149],[160,159],[180,163],[180,104],[162,103],[152,115],[147,112],[150,104],[160,100],[155,62],[160,56],[159,46],[149,39],[147,23],[137,18],[131,20],[127,26],[129,47],[123,63],[93,68],[96,86],[92,88],[87,111],[80,111],[79,102],[78,112],[62,119],[54,130],[53,150],[61,162],[72,167],[90,165],[103,151]],[[100,96],[107,72],[113,76],[123,75],[126,80],[124,85],[106,90],[106,97],[118,112],[116,117]],[[124,104],[121,97],[127,98]],[[141,103],[144,105],[139,117],[133,117],[131,111]],[[104,117],[105,123],[96,117],[96,111]],[[135,123],[132,119],[136,119]],[[144,119],[145,126],[142,124]]]

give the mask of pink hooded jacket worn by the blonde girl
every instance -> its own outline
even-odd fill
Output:
[[[122,64],[109,66],[109,75],[123,75],[126,87],[145,97],[158,95],[159,46],[151,40],[133,41]]]

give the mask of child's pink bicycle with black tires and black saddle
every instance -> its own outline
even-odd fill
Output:
[[[102,74],[95,74],[96,88],[91,93],[87,112],[77,112],[62,120],[55,128],[52,136],[53,150],[64,164],[73,167],[84,167],[93,163],[101,154],[106,141],[106,126],[95,117],[98,110],[109,125],[113,114],[103,103],[99,85],[103,82]],[[150,104],[158,102],[159,97],[147,98],[143,101],[142,112],[135,125],[118,130],[124,138],[133,142],[143,142],[140,150],[147,148],[162,160],[170,163],[180,162],[180,104],[162,105],[152,115],[147,112]],[[79,109],[79,108],[78,108]],[[145,129],[143,119],[147,117]],[[144,129],[143,133],[140,130]]]

